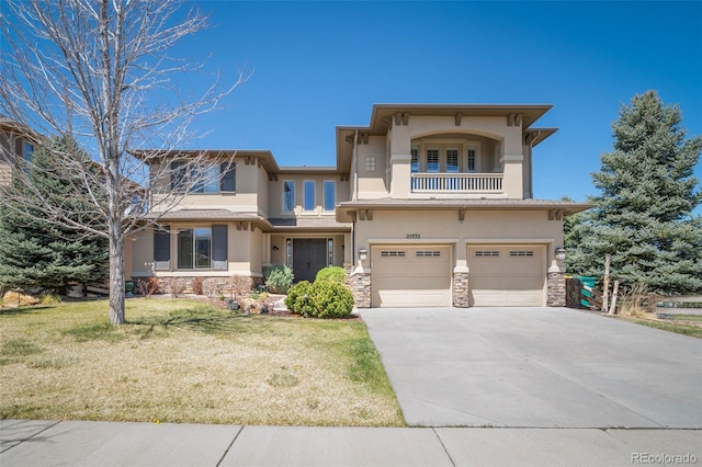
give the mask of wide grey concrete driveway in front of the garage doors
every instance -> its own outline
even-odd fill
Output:
[[[702,341],[567,308],[361,311],[423,426],[702,428]]]

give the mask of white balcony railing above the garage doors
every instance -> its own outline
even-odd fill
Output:
[[[502,193],[501,173],[412,173],[412,193]]]

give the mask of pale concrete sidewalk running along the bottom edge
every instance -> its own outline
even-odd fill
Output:
[[[1,466],[631,466],[702,463],[701,430],[0,421]]]

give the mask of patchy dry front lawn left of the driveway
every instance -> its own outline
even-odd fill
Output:
[[[398,426],[365,324],[183,299],[3,310],[0,418]]]

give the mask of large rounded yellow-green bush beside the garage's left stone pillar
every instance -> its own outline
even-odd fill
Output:
[[[353,310],[353,294],[331,281],[302,281],[287,292],[285,305],[306,318],[347,318]]]

